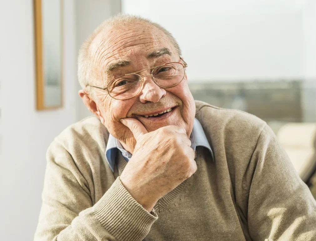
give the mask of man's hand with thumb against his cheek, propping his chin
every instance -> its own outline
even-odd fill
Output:
[[[155,203],[196,172],[195,153],[184,129],[165,126],[147,132],[135,118],[124,118],[136,139],[131,160],[120,179],[133,198],[149,212]]]

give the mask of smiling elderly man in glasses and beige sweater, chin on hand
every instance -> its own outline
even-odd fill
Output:
[[[273,132],[194,101],[164,28],[116,16],[78,64],[95,117],[48,149],[35,240],[316,240],[316,202]]]

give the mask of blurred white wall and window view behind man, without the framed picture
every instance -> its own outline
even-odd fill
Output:
[[[150,18],[167,28],[188,63],[194,98],[265,120],[316,196],[315,0],[63,0],[61,4],[63,106],[38,111],[34,2],[0,2],[3,240],[33,240],[46,149],[64,128],[90,115],[78,96],[78,49],[102,21],[120,12]],[[20,231],[14,232],[17,225]]]

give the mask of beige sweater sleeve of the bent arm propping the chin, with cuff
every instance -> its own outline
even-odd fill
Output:
[[[88,184],[71,155],[52,143],[35,241],[143,240],[157,218],[130,195],[119,177],[93,205]]]

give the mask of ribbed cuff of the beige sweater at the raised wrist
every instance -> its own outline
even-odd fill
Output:
[[[117,240],[142,240],[158,219],[154,211],[149,213],[131,196],[119,177],[94,205],[94,212]]]

